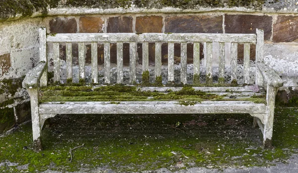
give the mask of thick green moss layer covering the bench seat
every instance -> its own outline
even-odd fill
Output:
[[[52,86],[41,87],[40,102],[50,101],[252,101],[265,103],[264,96],[251,96],[246,98],[224,98],[215,93],[202,92],[193,87],[182,87],[179,91],[167,92],[141,91],[136,86]]]

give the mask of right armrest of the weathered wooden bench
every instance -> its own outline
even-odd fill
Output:
[[[264,80],[269,86],[272,87],[283,87],[284,81],[281,79],[281,77],[276,73],[275,70],[272,68],[269,68],[267,65],[265,65],[263,62],[257,62],[257,67],[259,72],[262,74]]]

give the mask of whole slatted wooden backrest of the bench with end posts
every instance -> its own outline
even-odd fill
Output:
[[[237,80],[237,44],[244,44],[243,77],[249,84],[250,44],[256,44],[256,61],[263,60],[264,33],[257,29],[256,34],[197,34],[197,33],[81,33],[46,35],[46,29],[40,28],[40,61],[47,61],[47,43],[53,43],[54,82],[60,82],[59,44],[66,43],[67,79],[73,77],[72,43],[78,43],[79,78],[85,79],[85,43],[91,43],[91,76],[93,83],[98,83],[97,44],[104,45],[104,81],[111,83],[110,44],[117,43],[117,83],[123,83],[123,43],[130,45],[130,83],[136,81],[137,43],[142,43],[142,71],[149,70],[149,43],[155,43],[155,76],[161,76],[161,44],[168,43],[168,81],[174,81],[174,43],[181,44],[181,83],[187,82],[187,43],[193,43],[193,72],[200,75],[200,43],[206,43],[206,82],[212,83],[213,43],[220,45],[219,79],[224,79],[225,43],[231,43],[230,67],[231,81]],[[221,81],[220,81],[221,82]],[[46,86],[45,78],[41,85]]]

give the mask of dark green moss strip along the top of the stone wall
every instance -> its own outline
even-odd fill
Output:
[[[274,2],[276,2],[275,0]],[[44,15],[48,13],[48,7],[88,7],[88,8],[129,8],[132,4],[137,7],[162,8],[176,7],[192,9],[199,7],[235,7],[244,6],[252,9],[262,9],[265,0],[2,0],[0,5],[0,19],[8,19],[10,16],[22,14],[30,16],[35,11]]]

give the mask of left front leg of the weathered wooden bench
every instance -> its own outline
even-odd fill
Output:
[[[32,119],[32,134],[33,134],[33,149],[35,151],[41,151],[41,126],[38,110],[38,89],[28,89],[31,103],[31,119]]]

